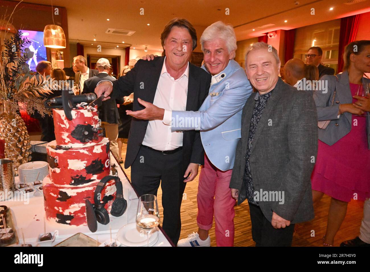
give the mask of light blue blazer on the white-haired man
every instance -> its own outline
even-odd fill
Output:
[[[252,94],[252,86],[235,60],[230,60],[217,78],[199,111],[172,111],[171,130],[200,130],[209,160],[226,171],[234,166],[236,144],[241,137],[242,109]],[[195,121],[176,122],[186,119]]]

